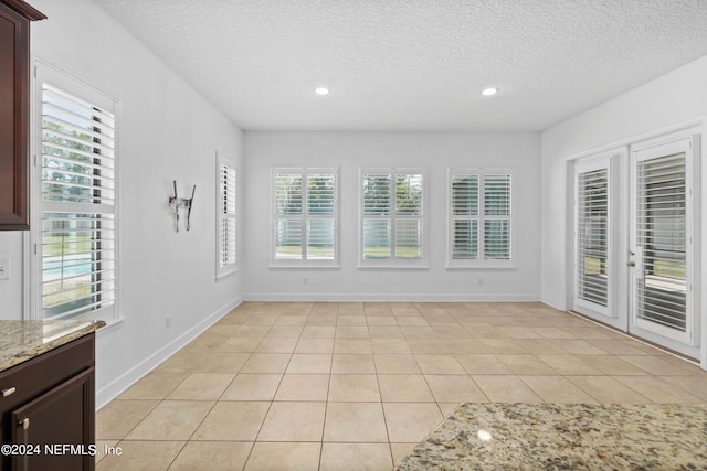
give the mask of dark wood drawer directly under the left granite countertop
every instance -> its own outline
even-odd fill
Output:
[[[14,388],[12,394],[0,396],[0,409],[23,404],[93,366],[94,338],[82,336],[0,373],[0,392]]]

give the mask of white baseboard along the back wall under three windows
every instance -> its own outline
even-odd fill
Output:
[[[245,301],[329,301],[329,302],[539,302],[540,295],[479,293],[272,293],[251,292]]]

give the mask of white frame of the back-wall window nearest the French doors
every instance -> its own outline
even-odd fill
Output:
[[[455,176],[476,176],[478,179],[478,203],[477,214],[475,216],[468,216],[477,221],[477,256],[475,259],[467,258],[454,258],[454,222],[462,220],[454,215],[454,192],[453,184]],[[486,215],[485,214],[485,179],[493,175],[506,175],[509,182],[509,201],[508,201],[508,215]],[[446,269],[460,270],[460,269],[515,269],[516,268],[516,237],[515,237],[515,192],[516,183],[514,181],[514,171],[510,168],[447,168],[447,211],[446,211]],[[485,223],[487,221],[508,221],[510,225],[508,245],[510,257],[508,259],[485,258],[484,249],[486,244]]]

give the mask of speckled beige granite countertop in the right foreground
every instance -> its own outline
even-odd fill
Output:
[[[706,470],[707,404],[463,404],[397,469]]]

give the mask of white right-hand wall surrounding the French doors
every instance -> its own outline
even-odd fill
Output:
[[[568,309],[568,211],[572,195],[568,191],[567,158],[593,149],[612,148],[645,139],[656,132],[699,122],[707,116],[707,56],[627,92],[597,108],[542,132],[542,301]],[[703,133],[703,156],[707,147]],[[704,161],[704,158],[703,158]],[[707,172],[703,165],[703,200]],[[703,217],[703,247],[707,247]],[[705,257],[700,266],[705,267]],[[705,283],[701,298],[707,299]],[[707,325],[707,320],[703,322]],[[707,343],[703,329],[703,345]],[[707,363],[703,347],[704,364]]]

